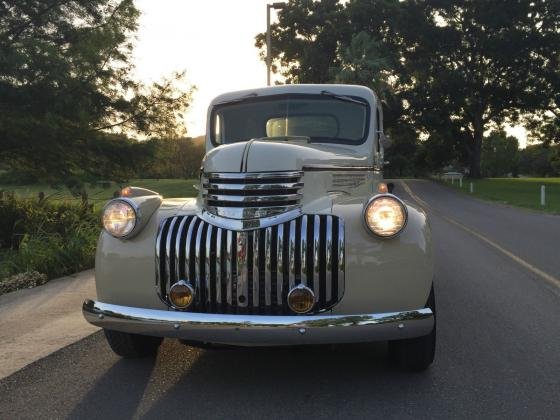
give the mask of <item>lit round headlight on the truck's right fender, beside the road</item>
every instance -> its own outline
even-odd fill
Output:
[[[389,194],[373,197],[364,209],[366,226],[382,238],[397,235],[406,226],[407,218],[403,202]]]

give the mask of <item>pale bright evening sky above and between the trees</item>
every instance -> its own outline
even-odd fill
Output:
[[[135,77],[149,83],[186,71],[187,82],[197,88],[185,116],[189,136],[204,134],[214,97],[266,84],[266,65],[255,48],[255,35],[266,30],[267,3],[272,1],[136,0],[142,14]],[[506,131],[525,147],[523,127],[507,126]]]

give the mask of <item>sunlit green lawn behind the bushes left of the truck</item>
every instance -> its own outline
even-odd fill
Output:
[[[156,191],[164,197],[194,197],[197,191],[193,185],[198,184],[196,179],[134,179],[130,181],[130,185],[135,187],[148,188]],[[90,200],[97,206],[102,206],[107,200],[113,197],[115,191],[119,190],[117,184],[111,183],[107,188],[102,187],[88,187]],[[79,198],[72,197],[68,189],[60,188],[54,189],[48,185],[33,184],[33,185],[0,185],[0,191],[14,191],[19,198],[37,198],[39,192],[44,192],[49,200],[53,201],[79,201]]]

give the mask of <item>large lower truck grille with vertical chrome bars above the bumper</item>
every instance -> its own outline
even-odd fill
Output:
[[[213,226],[197,216],[166,219],[156,241],[157,289],[178,280],[195,289],[191,312],[290,314],[287,295],[303,283],[315,293],[313,312],[344,293],[344,221],[303,215],[251,231]]]

